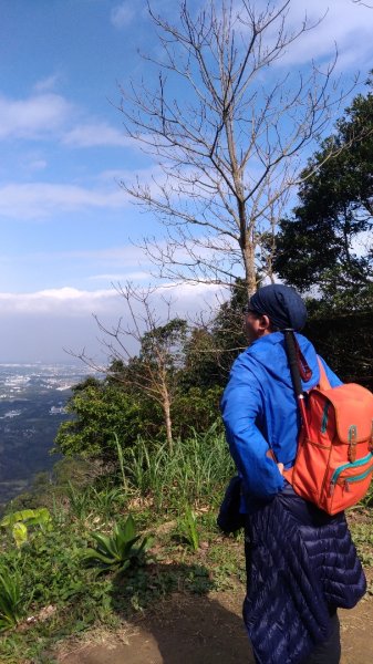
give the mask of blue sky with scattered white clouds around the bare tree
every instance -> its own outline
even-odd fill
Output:
[[[363,90],[373,66],[365,4],[293,0],[290,24],[328,13],[281,66],[327,60],[336,43],[339,73],[348,82],[361,72]],[[153,7],[178,18],[175,0]],[[121,315],[112,283],[154,279],[137,245],[162,229],[118,183],[151,181],[157,166],[125,137],[117,106],[120,85],[149,75],[139,52],[158,55],[159,44],[144,0],[0,0],[0,362],[70,361],[64,349],[99,352],[92,313],[108,324]],[[177,313],[205,298],[178,288]]]

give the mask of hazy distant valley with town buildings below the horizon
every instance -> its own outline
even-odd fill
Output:
[[[71,387],[86,374],[82,365],[0,364],[0,505],[58,460],[50,449]]]

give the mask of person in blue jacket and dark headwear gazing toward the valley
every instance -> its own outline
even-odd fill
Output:
[[[270,284],[249,300],[249,346],[235,361],[221,400],[230,454],[241,478],[247,594],[244,620],[257,664],[338,664],[338,608],[352,608],[366,583],[343,512],[333,517],[298,496],[282,473],[293,466],[300,414],[284,346],[296,331],[307,392],[318,355],[300,334],[301,297]],[[332,387],[340,378],[320,357]]]

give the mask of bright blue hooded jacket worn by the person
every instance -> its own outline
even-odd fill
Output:
[[[310,390],[320,378],[318,355],[305,336],[297,334],[297,339],[312,371],[310,381],[303,383],[303,388]],[[322,362],[330,384],[341,385]],[[282,332],[262,336],[237,357],[222,395],[221,413],[230,454],[244,479],[244,494],[272,498],[283,489],[284,480],[266,454],[272,448],[278,461],[290,468],[300,427]]]

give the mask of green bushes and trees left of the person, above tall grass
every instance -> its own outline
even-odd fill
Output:
[[[138,437],[169,439],[164,401],[168,400],[173,437],[186,439],[211,425],[221,427],[219,402],[230,364],[241,347],[246,287],[238,283],[209,328],[172,319],[141,339],[136,356],[114,359],[104,380],[89,377],[73,388],[55,450],[65,457],[118,463],[118,449]],[[162,391],[165,391],[163,395]],[[116,443],[117,439],[117,443]]]

